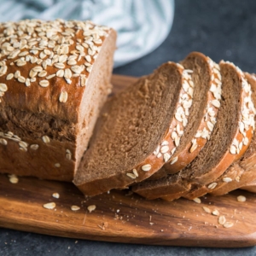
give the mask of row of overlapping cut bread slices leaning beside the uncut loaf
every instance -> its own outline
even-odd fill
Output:
[[[130,186],[166,201],[252,190],[255,85],[233,63],[197,52],[162,65],[105,105],[74,183],[84,195]],[[172,108],[159,93],[171,94]]]

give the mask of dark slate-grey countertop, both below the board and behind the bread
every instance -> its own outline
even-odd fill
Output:
[[[172,32],[166,41],[151,54],[116,68],[114,73],[141,76],[165,61],[180,61],[193,50],[209,55],[214,61],[233,61],[242,70],[256,73],[255,14],[256,1],[177,0]],[[256,247],[218,249],[75,241],[0,229],[0,256],[256,255]]]

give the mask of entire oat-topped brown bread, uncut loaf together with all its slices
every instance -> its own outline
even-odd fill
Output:
[[[115,39],[90,21],[0,24],[0,172],[90,196],[255,192],[254,75],[192,52],[108,97]]]

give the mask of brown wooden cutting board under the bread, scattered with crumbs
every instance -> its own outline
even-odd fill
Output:
[[[114,92],[132,78],[113,76]],[[1,163],[0,163],[1,164]],[[60,198],[52,197],[59,193]],[[238,202],[237,195],[247,201]],[[56,207],[48,210],[47,202]],[[73,212],[71,207],[79,206]],[[87,207],[95,205],[94,212]],[[201,198],[201,203],[179,199],[173,202],[146,201],[128,190],[111,191],[85,199],[72,183],[19,177],[9,183],[0,175],[0,226],[51,236],[97,241],[192,247],[249,247],[256,245],[256,195],[237,190],[230,195]],[[218,224],[218,216],[205,212],[218,209],[230,228]]]

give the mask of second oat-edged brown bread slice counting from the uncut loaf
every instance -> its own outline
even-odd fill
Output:
[[[180,138],[180,143],[178,141],[176,151],[171,159],[149,179],[159,179],[188,166],[211,137],[216,122],[218,101],[221,96],[218,65],[199,52],[190,53],[181,63],[183,67],[193,71],[192,80],[195,84],[188,125],[184,129],[184,136]],[[173,132],[172,139],[176,138],[177,134]]]

